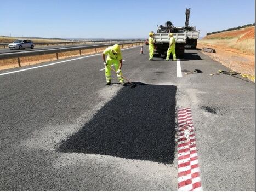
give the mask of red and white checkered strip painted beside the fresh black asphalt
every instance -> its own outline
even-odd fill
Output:
[[[202,191],[190,108],[178,110],[178,191]]]

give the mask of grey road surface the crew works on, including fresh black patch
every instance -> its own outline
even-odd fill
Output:
[[[105,86],[100,54],[1,71],[0,189],[175,191],[177,109],[190,107],[203,190],[253,191],[254,84],[209,75],[229,69],[197,50],[181,71],[139,53],[123,50],[134,89]]]

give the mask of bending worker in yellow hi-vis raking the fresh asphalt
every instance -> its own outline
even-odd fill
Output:
[[[107,59],[105,60],[105,55],[107,55]],[[106,48],[102,53],[103,58],[103,65],[105,65],[105,77],[107,80],[106,85],[111,84],[111,68],[109,66],[113,65],[116,69],[116,74],[118,77],[118,80],[121,85],[125,85],[123,78],[121,77],[122,72],[121,68],[123,65],[123,57],[121,53],[120,46],[118,44],[115,44],[113,46],[109,46]]]

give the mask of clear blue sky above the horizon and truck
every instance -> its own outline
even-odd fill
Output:
[[[59,38],[138,38],[172,21],[207,32],[255,22],[254,0],[13,0],[1,1],[0,35]]]

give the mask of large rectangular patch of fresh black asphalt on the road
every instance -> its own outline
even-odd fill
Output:
[[[79,132],[61,143],[60,152],[173,164],[176,90],[173,85],[123,87]]]

